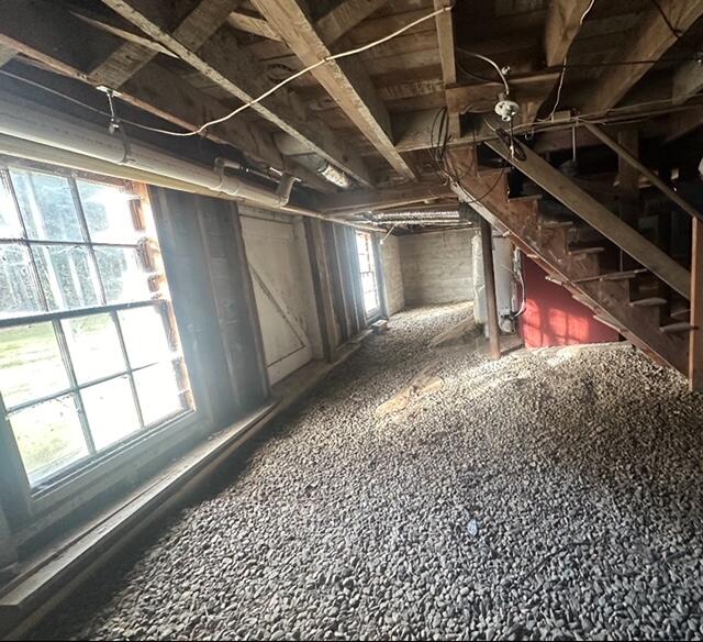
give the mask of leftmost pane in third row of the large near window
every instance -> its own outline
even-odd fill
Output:
[[[0,330],[0,392],[5,408],[69,387],[52,323]]]

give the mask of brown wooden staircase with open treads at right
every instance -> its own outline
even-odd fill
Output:
[[[540,195],[509,198],[505,174],[465,175],[461,184],[478,199],[472,207],[529,258],[549,279],[589,307],[655,361],[688,373],[689,303],[649,269],[618,269],[617,246],[579,218],[540,212]]]

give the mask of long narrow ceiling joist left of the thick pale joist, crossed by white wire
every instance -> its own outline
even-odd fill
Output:
[[[231,30],[228,30],[230,33],[220,30],[215,34],[219,37],[211,37],[196,54],[159,26],[158,21],[150,15],[146,0],[102,1],[243,102],[253,101],[274,86],[263,65],[246,49],[237,46]],[[370,186],[370,175],[360,158],[349,154],[327,125],[306,113],[302,104],[294,102],[294,95],[281,89],[253,104],[252,109],[293,137],[301,140],[311,152],[323,156],[364,185]]]

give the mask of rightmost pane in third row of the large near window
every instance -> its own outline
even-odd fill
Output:
[[[159,307],[122,310],[119,318],[127,357],[133,368],[171,358],[172,351]]]

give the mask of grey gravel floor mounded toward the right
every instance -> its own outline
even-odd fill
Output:
[[[703,398],[629,347],[465,350],[376,418],[466,311],[394,317],[37,635],[701,638]]]

